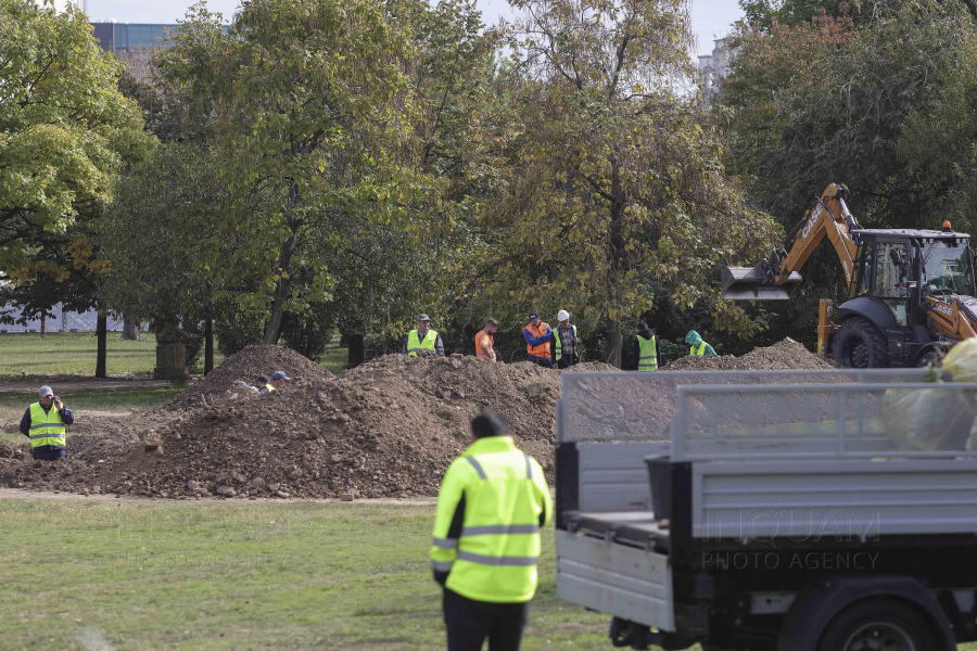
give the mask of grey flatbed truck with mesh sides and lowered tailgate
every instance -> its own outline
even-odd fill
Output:
[[[977,385],[925,376],[564,373],[557,595],[633,649],[977,640]]]

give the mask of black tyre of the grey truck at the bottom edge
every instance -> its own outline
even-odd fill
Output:
[[[931,651],[932,629],[900,601],[871,599],[841,611],[824,629],[817,651]]]

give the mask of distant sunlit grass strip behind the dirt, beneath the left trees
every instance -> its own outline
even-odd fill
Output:
[[[120,342],[110,332],[106,363],[110,375],[151,373],[156,365],[156,340],[143,334],[141,342]],[[334,373],[346,368],[346,348],[339,347],[339,335],[326,347],[320,363]],[[36,332],[0,334],[0,375],[79,374],[94,375],[98,342],[90,332],[49,333],[45,339]],[[224,356],[214,352],[214,363]]]

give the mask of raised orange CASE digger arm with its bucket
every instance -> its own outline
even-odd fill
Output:
[[[859,228],[859,225],[845,204],[847,196],[848,188],[829,184],[804,214],[803,220],[787,235],[783,248],[774,250],[769,258],[761,260],[752,269],[726,267],[723,270],[723,298],[788,298],[784,285],[801,281],[800,269],[825,235],[835,246],[845,270],[845,279],[851,284],[858,251],[851,230]]]

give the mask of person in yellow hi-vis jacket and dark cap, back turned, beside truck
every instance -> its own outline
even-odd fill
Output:
[[[455,459],[437,496],[431,561],[444,586],[448,651],[518,651],[536,592],[540,528],[553,514],[535,459],[491,412],[471,421],[473,443]]]

